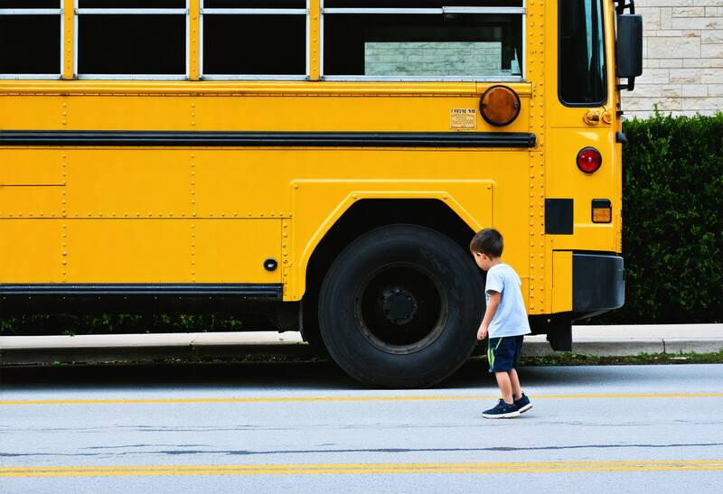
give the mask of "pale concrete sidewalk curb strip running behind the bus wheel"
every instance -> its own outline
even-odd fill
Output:
[[[715,353],[723,350],[723,324],[573,326],[573,351],[596,356],[641,353]],[[525,355],[555,353],[545,335],[525,339]],[[315,353],[298,332],[213,332],[104,334],[80,336],[0,336],[0,364],[54,361],[185,359],[280,356],[310,358]]]

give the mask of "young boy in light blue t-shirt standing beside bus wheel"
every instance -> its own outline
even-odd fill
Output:
[[[502,399],[484,411],[484,418],[516,417],[532,407],[530,398],[522,393],[516,370],[523,335],[530,333],[530,323],[522,300],[520,277],[502,262],[503,247],[502,235],[493,228],[479,231],[469,245],[477,266],[487,272],[484,285],[487,310],[477,331],[477,340],[489,337],[490,372],[494,372],[502,392]]]

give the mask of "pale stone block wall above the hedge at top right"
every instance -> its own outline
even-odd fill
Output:
[[[643,76],[623,91],[626,117],[723,111],[723,0],[635,0]]]

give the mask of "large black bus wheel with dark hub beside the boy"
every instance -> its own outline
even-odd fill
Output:
[[[319,328],[334,361],[362,383],[432,386],[474,350],[483,292],[474,261],[450,238],[389,225],[334,260],[319,296]]]

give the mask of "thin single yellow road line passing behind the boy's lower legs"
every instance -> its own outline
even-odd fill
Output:
[[[194,403],[288,403],[364,401],[456,401],[497,399],[496,395],[448,396],[261,396],[248,398],[97,398],[56,400],[2,400],[0,405],[153,405]],[[533,395],[533,399],[592,398],[723,398],[723,393],[600,393],[584,395]]]

